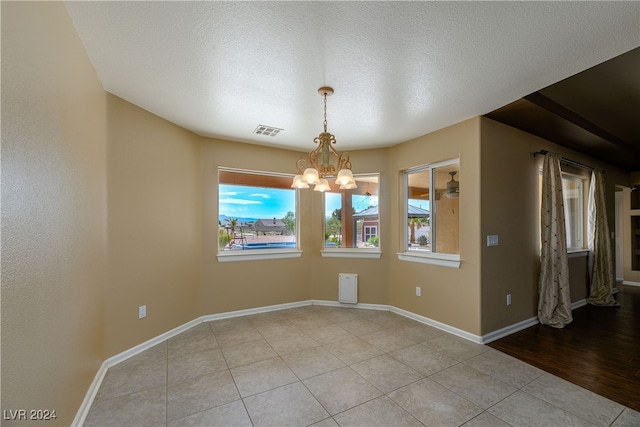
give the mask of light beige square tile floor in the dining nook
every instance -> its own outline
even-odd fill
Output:
[[[110,368],[85,426],[639,426],[640,413],[390,313],[202,323]]]

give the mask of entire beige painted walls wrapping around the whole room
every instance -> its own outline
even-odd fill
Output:
[[[354,173],[380,173],[380,259],[323,258],[322,197],[305,190],[302,257],[220,263],[217,168],[292,173],[304,153],[202,138],[105,94],[61,3],[1,11],[2,409],[56,409],[55,424],[71,422],[105,358],[201,315],[335,301],[339,273],[359,275],[362,303],[472,334],[529,319],[540,161],[531,153],[605,169],[612,229],[614,186],[629,185],[595,159],[477,117],[351,153]],[[460,268],[398,260],[402,171],[452,158],[463,176]],[[500,245],[487,248],[487,234]],[[581,299],[585,260],[570,264]]]

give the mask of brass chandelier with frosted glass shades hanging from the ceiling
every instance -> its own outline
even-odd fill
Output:
[[[318,147],[310,151],[306,159],[298,159],[296,162],[298,174],[293,178],[291,188],[309,188],[309,185],[314,185],[314,191],[327,191],[330,190],[327,177],[333,176],[341,190],[358,188],[351,173],[349,154],[340,153],[333,148],[336,137],[327,132],[327,96],[333,94],[333,89],[321,87],[318,93],[324,97],[324,132],[313,139]]]

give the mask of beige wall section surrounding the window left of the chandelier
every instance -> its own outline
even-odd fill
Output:
[[[300,193],[302,230],[300,258],[219,262],[218,168],[240,168],[272,173],[294,173],[301,153],[250,144],[203,138],[202,194],[203,261],[199,314],[304,301],[310,297],[309,271],[312,235],[310,192]]]

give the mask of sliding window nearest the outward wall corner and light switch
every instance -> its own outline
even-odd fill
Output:
[[[405,251],[459,260],[459,160],[409,169],[404,185]]]

